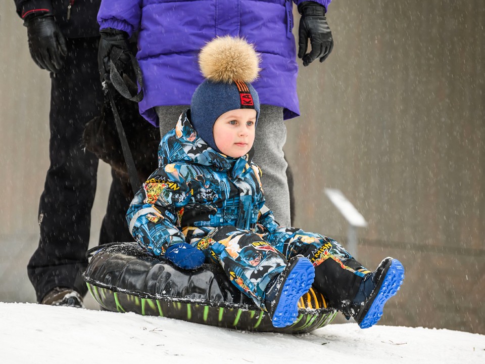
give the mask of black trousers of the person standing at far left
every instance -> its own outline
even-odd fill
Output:
[[[64,67],[51,73],[50,167],[39,202],[39,245],[27,266],[38,302],[55,287],[73,288],[83,295],[87,291],[81,273],[87,264],[98,159],[84,150],[81,137],[103,102],[98,43],[98,37],[68,39]],[[110,203],[123,213],[105,218],[103,242],[130,237],[124,218],[129,201],[116,201],[122,196],[116,192],[120,186],[112,185]]]

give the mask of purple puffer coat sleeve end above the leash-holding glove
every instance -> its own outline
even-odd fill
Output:
[[[103,0],[98,12],[100,30],[123,30],[129,36],[138,30],[141,21],[141,0]]]

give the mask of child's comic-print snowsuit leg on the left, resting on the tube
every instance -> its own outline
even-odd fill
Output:
[[[284,256],[259,235],[234,226],[214,229],[207,237],[192,243],[207,258],[222,265],[234,286],[265,310],[264,290],[286,267]]]

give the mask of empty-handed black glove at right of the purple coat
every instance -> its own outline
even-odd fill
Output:
[[[325,17],[325,7],[315,2],[303,2],[298,6],[302,15],[298,29],[298,58],[303,58],[303,65],[320,58],[320,62],[327,59],[333,49],[332,32]],[[307,53],[308,38],[312,51]]]

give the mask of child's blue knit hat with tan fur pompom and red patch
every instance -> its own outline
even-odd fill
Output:
[[[245,39],[224,36],[207,43],[199,55],[199,66],[206,78],[192,95],[190,121],[199,136],[212,149],[212,128],[219,116],[229,110],[254,109],[259,117],[258,93],[251,85],[258,77],[260,58]]]

